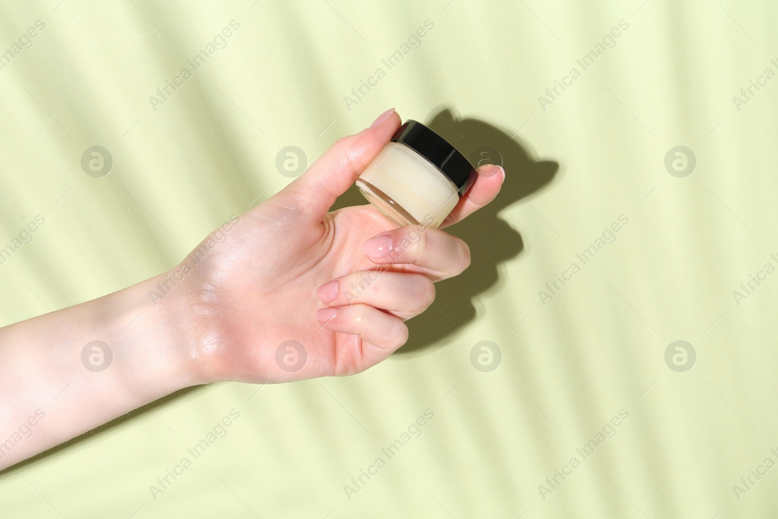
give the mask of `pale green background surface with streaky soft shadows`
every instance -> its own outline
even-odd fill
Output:
[[[513,142],[559,171],[518,199],[510,186],[532,168],[503,148],[503,209],[454,227],[473,265],[411,321],[410,352],[251,400],[247,384],[176,395],[0,475],[2,517],[774,516],[778,469],[739,501],[732,490],[778,461],[778,275],[739,307],[732,295],[778,265],[778,79],[740,111],[732,101],[778,72],[773,3],[59,2],[0,14],[2,51],[47,24],[0,71],[0,245],[46,218],[0,266],[2,324],[172,267],[289,182],[283,146],[310,163],[387,107],[485,121],[506,132],[497,147],[526,122]],[[154,112],[148,97],[231,19],[227,47]],[[426,19],[422,47],[347,110],[343,96]],[[541,110],[620,19],[615,48]],[[80,168],[93,145],[114,156],[107,177]],[[690,177],[664,169],[677,145],[696,153]],[[615,243],[544,306],[538,290],[622,214]],[[664,363],[677,339],[698,355],[686,373]],[[469,361],[482,340],[503,352],[491,373]],[[233,408],[228,435],[152,500],[156,477]],[[348,500],[343,486],[425,409],[422,436]],[[619,409],[617,435],[543,500],[538,486]]]

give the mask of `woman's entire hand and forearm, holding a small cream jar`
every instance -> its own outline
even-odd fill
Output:
[[[0,329],[0,470],[183,387],[357,373],[398,349],[433,281],[470,261],[370,205],[328,213],[399,125],[390,110],[339,140],[170,272]],[[444,224],[502,182],[481,168]]]

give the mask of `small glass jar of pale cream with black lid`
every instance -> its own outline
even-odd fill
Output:
[[[475,180],[475,168],[418,121],[405,121],[356,186],[398,226],[440,226]]]

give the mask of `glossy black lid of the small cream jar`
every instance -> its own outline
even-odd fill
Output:
[[[446,139],[437,135],[419,121],[408,119],[391,138],[429,160],[434,167],[443,172],[457,186],[460,195],[470,187],[468,180],[475,170],[464,155],[451,146]]]

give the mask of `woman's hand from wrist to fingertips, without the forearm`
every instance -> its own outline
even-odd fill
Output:
[[[408,338],[406,319],[435,297],[433,282],[470,263],[457,237],[394,225],[371,205],[328,212],[400,126],[394,110],[338,140],[278,194],[195,249],[176,305],[185,352],[202,382],[280,382],[359,373]],[[492,201],[503,170],[486,166],[443,226]],[[219,230],[217,230],[219,233]],[[223,237],[226,237],[224,239]],[[205,249],[202,249],[205,247]],[[280,352],[279,352],[280,348]]]

